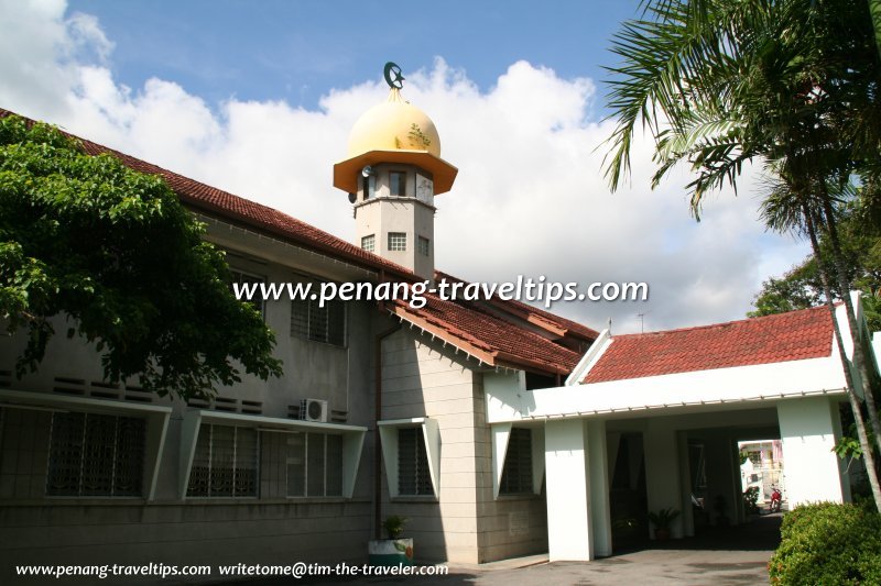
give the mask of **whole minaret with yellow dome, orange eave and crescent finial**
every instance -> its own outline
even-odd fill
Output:
[[[355,207],[356,244],[432,279],[434,197],[450,190],[458,169],[440,158],[434,122],[401,97],[403,80],[401,68],[387,63],[389,99],[352,126],[334,187]]]

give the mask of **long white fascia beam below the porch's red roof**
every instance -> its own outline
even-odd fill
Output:
[[[841,394],[837,353],[823,358],[736,366],[525,391],[498,389],[487,402],[489,423],[588,417],[665,407],[776,400]],[[490,390],[487,391],[491,392]]]

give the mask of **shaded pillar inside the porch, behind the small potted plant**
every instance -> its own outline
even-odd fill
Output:
[[[682,510],[682,486],[679,480],[679,449],[676,431],[659,421],[651,421],[642,434],[645,451],[645,491],[649,510]],[[682,516],[670,528],[674,538],[683,537]],[[654,537],[654,528],[650,528]]]

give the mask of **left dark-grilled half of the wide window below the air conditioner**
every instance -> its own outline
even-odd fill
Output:
[[[258,432],[203,423],[189,471],[188,497],[255,497]]]

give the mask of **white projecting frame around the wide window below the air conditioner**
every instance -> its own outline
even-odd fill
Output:
[[[361,425],[346,425],[341,423],[322,423],[318,421],[302,421],[298,419],[283,419],[280,417],[249,416],[242,413],[228,413],[206,409],[187,409],[184,412],[181,429],[181,457],[180,457],[180,496],[186,499],[186,489],[189,485],[189,472],[193,467],[193,456],[196,453],[196,442],[203,423],[216,425],[237,425],[253,428],[259,432],[269,433],[338,433],[342,435],[342,496],[351,498],[355,490],[355,479],[358,465],[361,462],[361,449],[365,443],[367,428]]]

